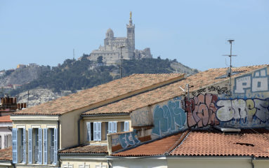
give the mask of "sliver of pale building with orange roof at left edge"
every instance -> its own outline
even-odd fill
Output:
[[[0,117],[0,148],[8,148],[12,146],[11,139],[11,129],[12,129],[12,120],[11,116],[1,116]]]

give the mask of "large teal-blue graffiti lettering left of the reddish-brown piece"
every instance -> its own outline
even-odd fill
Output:
[[[185,127],[186,115],[181,109],[181,102],[167,102],[167,105],[156,105],[153,113],[154,128],[152,134],[162,137],[162,134],[176,132]]]

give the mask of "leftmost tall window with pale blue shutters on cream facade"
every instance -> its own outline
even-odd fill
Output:
[[[12,129],[13,163],[26,163],[26,132],[25,128]]]

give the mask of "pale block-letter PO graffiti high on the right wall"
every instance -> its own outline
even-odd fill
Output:
[[[265,68],[255,71],[253,76],[249,74],[235,78],[234,92],[245,94],[249,89],[251,92],[264,92],[268,91],[268,84],[267,69]]]

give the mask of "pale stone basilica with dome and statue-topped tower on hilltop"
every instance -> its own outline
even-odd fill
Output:
[[[130,12],[129,25],[126,25],[127,37],[114,37],[112,29],[107,29],[105,33],[104,46],[100,45],[98,50],[91,52],[91,60],[96,61],[99,56],[103,56],[103,61],[107,64],[114,64],[120,59],[121,48],[122,58],[124,59],[142,59],[152,58],[150,48],[136,50],[135,48],[135,25],[131,19]]]

